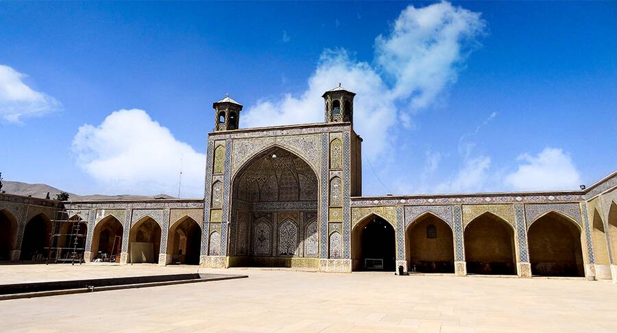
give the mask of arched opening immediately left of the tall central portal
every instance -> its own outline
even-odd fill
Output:
[[[167,237],[167,254],[172,264],[199,265],[199,248],[202,245],[202,228],[191,217],[178,219]]]

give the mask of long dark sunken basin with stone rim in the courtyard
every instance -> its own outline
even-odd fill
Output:
[[[95,291],[157,287],[166,286],[169,284],[232,280],[238,278],[248,278],[248,276],[191,273],[1,284],[0,300],[66,295],[73,293],[93,293]]]

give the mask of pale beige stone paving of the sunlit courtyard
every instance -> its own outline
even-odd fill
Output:
[[[196,267],[3,265],[0,283]],[[199,269],[250,278],[0,301],[2,332],[617,332],[617,284]]]

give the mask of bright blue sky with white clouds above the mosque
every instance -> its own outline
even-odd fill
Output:
[[[617,169],[615,17],[615,2],[3,1],[0,172],[176,195],[182,159],[181,196],[199,197],[213,101],[243,103],[243,127],[322,121],[342,81],[365,195],[576,189]]]

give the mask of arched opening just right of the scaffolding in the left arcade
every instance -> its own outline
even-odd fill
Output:
[[[120,262],[124,228],[114,215],[107,215],[95,226],[92,235],[92,261]]]

